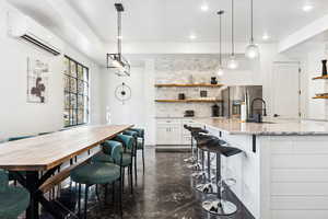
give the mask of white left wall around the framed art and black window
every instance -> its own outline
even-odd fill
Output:
[[[0,139],[58,130],[63,126],[63,58],[54,57],[36,47],[8,36],[7,13],[16,11],[0,0]],[[98,67],[66,45],[63,54],[90,67],[91,120],[99,122],[101,97]],[[27,57],[40,58],[50,64],[48,100],[45,104],[26,102]]]

